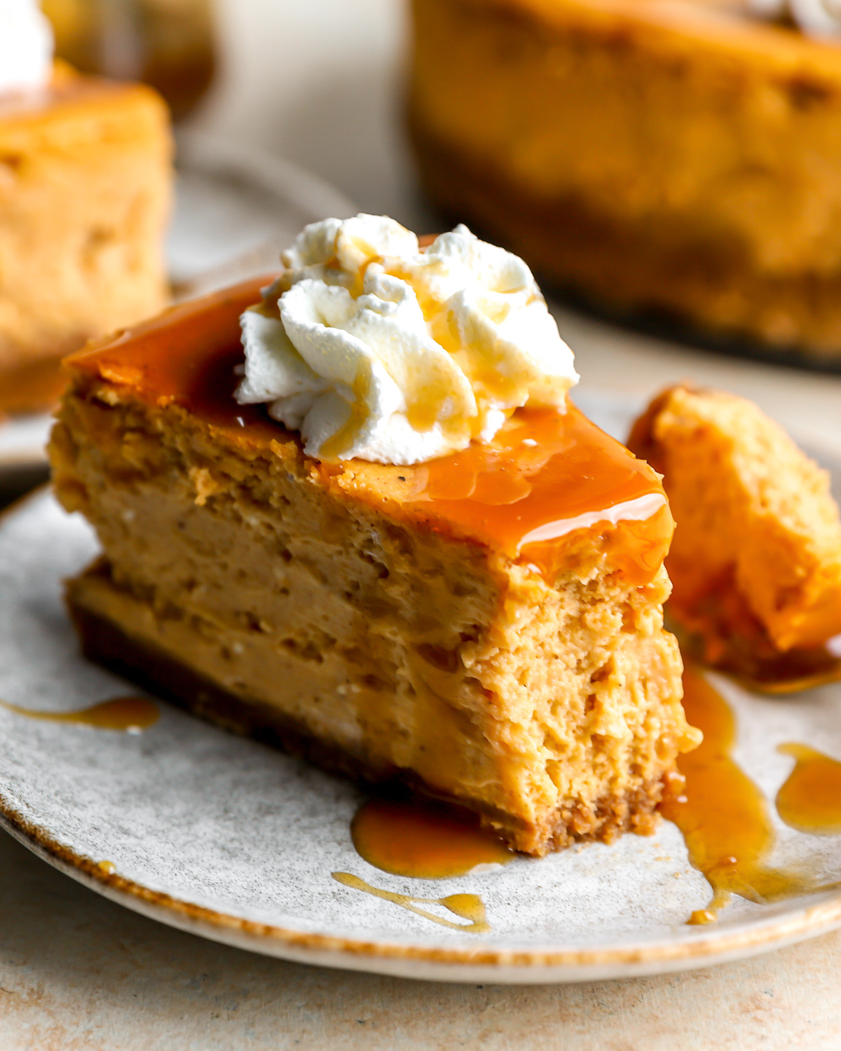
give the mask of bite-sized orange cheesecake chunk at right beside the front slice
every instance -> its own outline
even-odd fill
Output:
[[[663,475],[677,528],[669,612],[711,663],[756,671],[841,633],[841,521],[827,473],[753,403],[673,387],[630,448]]]

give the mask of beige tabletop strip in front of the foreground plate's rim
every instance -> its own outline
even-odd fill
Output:
[[[162,927],[0,833],[3,1051],[841,1048],[841,933],[701,971],[454,986],[286,964]]]

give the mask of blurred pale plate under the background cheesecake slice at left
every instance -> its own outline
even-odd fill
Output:
[[[178,147],[166,254],[179,298],[265,273],[307,223],[356,210],[279,157],[202,133],[181,135]],[[4,475],[43,463],[50,424],[49,413],[0,421],[0,487]]]

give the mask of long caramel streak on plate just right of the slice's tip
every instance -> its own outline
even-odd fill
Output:
[[[710,904],[689,922],[712,923],[732,894],[764,903],[818,889],[805,875],[765,864],[774,846],[771,813],[759,787],[731,758],[736,723],[727,702],[693,667],[683,691],[686,719],[703,731],[703,742],[678,759],[685,786],[660,810],[681,830],[690,861],[713,888]]]

